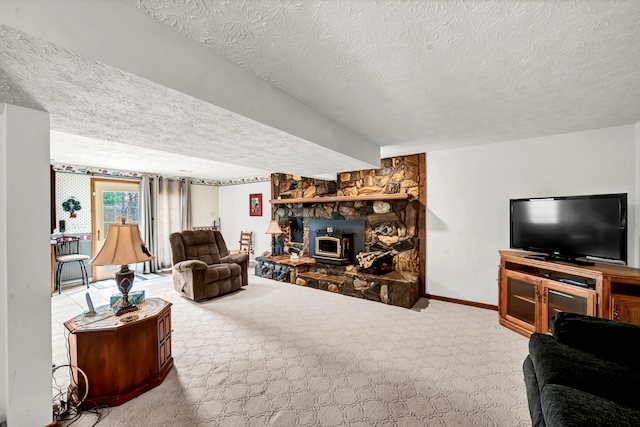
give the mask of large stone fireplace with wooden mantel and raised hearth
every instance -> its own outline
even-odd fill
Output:
[[[265,260],[271,262],[268,268],[277,267],[279,277],[298,285],[410,307],[418,298],[418,287],[424,286],[423,170],[422,154],[383,159],[379,169],[339,173],[336,181],[272,175],[271,203],[283,231],[283,259],[292,250],[312,257],[318,230],[352,232],[344,230],[343,223],[358,223],[360,228],[354,235],[352,263],[332,265],[316,259],[303,268]],[[388,276],[376,278],[358,269],[354,256],[371,252],[389,260]],[[257,265],[256,274],[264,275],[265,265]]]

